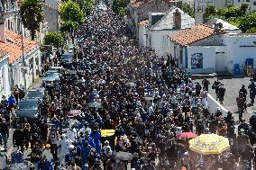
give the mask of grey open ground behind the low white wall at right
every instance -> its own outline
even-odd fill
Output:
[[[215,80],[217,79],[215,78],[207,78],[210,82],[209,85],[209,94],[211,94],[214,98],[216,98],[216,94],[215,94],[215,89],[212,89],[212,85],[214,84]],[[201,83],[203,79],[199,79],[198,81]],[[251,103],[251,99],[249,97],[249,89],[248,89],[248,85],[251,84],[250,82],[250,78],[249,77],[242,77],[242,78],[223,78],[220,80],[221,83],[224,84],[224,88],[225,88],[225,95],[224,95],[224,108],[230,112],[233,112],[233,116],[235,121],[238,121],[238,109],[237,109],[237,105],[236,105],[236,97],[238,96],[238,92],[242,87],[242,84],[245,85],[246,89],[247,89],[247,105],[249,103]],[[256,110],[256,105],[254,104],[253,106],[248,105],[247,107],[247,112],[245,112],[243,114],[243,119],[245,119],[245,121],[249,121],[250,117],[251,117],[251,113],[253,111]]]

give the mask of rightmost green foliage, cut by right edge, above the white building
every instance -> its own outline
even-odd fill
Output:
[[[240,24],[239,24],[239,28],[243,31],[243,32],[247,32],[247,31],[252,31],[253,28],[256,27],[256,12],[251,12],[246,14]]]

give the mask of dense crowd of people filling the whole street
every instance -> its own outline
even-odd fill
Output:
[[[102,6],[78,30],[73,64],[60,71],[59,82],[45,86],[43,119],[15,125],[10,164],[23,163],[24,150],[31,149],[36,170],[249,170],[256,113],[251,126],[241,120],[237,135],[232,112],[208,112],[206,79],[195,83],[177,58],[158,58],[153,49],[139,47],[126,22]],[[13,108],[11,102],[3,99],[1,106]],[[2,116],[5,149],[6,121]],[[114,132],[103,136],[103,130]],[[188,139],[178,138],[182,132],[216,133],[230,139],[231,147],[202,156],[189,150]],[[0,169],[7,166],[5,149]]]

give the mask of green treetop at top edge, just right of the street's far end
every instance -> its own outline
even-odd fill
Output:
[[[127,5],[129,3],[130,0],[114,0],[112,4],[112,9],[114,13],[118,13],[123,16],[128,12]]]

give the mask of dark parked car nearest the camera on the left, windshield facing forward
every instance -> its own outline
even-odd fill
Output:
[[[39,118],[38,99],[24,99],[20,101],[15,113],[17,118]]]

